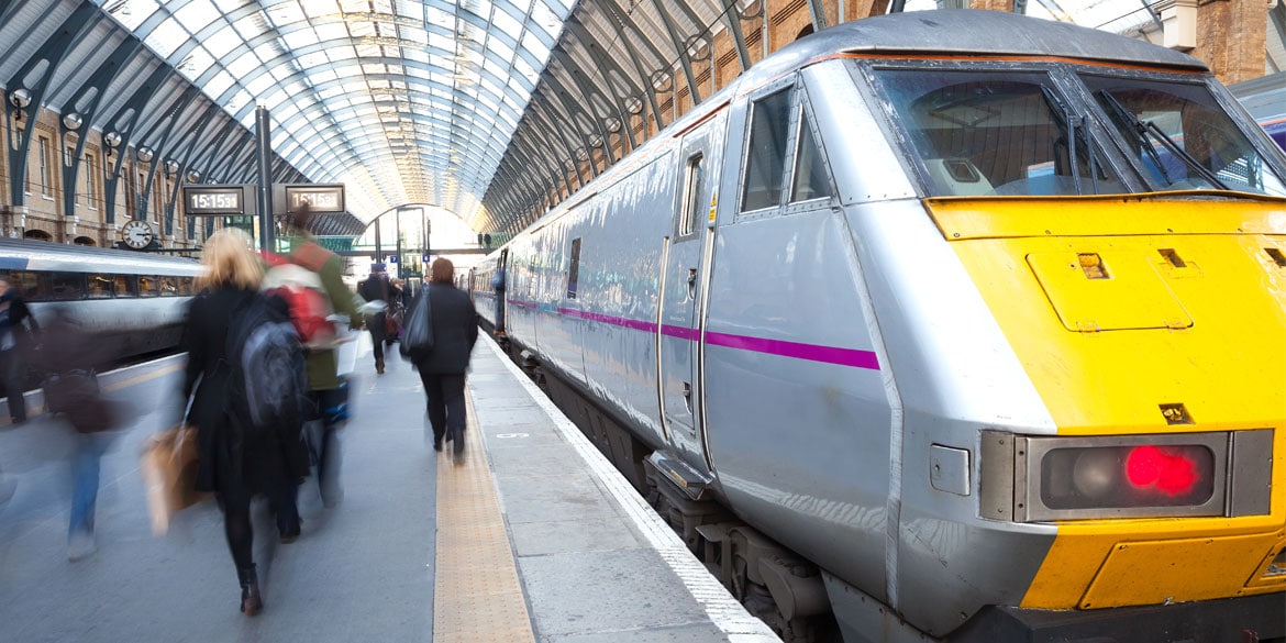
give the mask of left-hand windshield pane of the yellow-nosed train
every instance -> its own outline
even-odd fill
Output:
[[[934,195],[1128,192],[1040,72],[877,69]]]

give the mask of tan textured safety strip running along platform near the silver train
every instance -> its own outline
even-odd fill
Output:
[[[466,404],[464,460],[454,462],[450,442],[437,454],[433,640],[535,643],[472,395]]]

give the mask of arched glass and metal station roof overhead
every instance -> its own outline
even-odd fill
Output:
[[[716,39],[745,71],[764,46],[763,4],[0,0],[0,85],[217,183],[257,175],[261,105],[275,181],[347,186],[355,219],[336,229],[436,204],[477,231],[516,231],[673,122],[667,100],[727,85]],[[822,0],[802,4],[824,27]],[[1155,0],[1125,4],[1030,0],[1028,13],[1109,31],[1156,21]]]

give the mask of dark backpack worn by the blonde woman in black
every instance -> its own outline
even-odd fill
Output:
[[[251,297],[233,312],[226,351],[229,413],[242,427],[262,433],[303,422],[303,347],[287,315],[266,297]]]

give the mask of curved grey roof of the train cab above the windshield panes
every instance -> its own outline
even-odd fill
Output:
[[[916,55],[1037,55],[1146,67],[1206,71],[1191,55],[1141,40],[1008,12],[939,9],[846,22],[800,39],[751,67],[747,76],[781,71],[836,51]],[[751,86],[759,82],[751,81]]]

